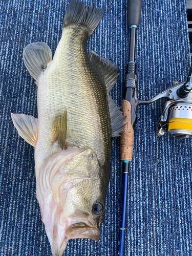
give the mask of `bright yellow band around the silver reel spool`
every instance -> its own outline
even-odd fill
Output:
[[[170,130],[190,130],[192,131],[192,119],[188,118],[174,118],[168,121],[168,131]]]

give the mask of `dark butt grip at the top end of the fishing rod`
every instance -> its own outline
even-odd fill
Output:
[[[142,0],[127,0],[127,26],[135,25],[139,28],[141,22]]]

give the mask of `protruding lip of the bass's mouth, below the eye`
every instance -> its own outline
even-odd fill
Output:
[[[89,226],[86,223],[80,222],[72,224],[66,229],[66,237],[68,239],[90,238],[99,241],[100,233],[94,226]]]

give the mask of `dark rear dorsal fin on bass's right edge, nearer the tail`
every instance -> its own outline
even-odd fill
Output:
[[[88,52],[90,66],[97,77],[106,86],[106,92],[110,93],[119,76],[119,71],[114,62],[106,59],[95,52]]]

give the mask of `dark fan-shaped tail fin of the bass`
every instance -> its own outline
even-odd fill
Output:
[[[80,26],[88,30],[90,36],[99,24],[103,14],[104,9],[84,6],[80,1],[72,0],[67,7],[62,27]]]

